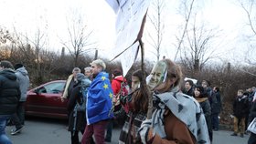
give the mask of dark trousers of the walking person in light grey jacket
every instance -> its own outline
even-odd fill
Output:
[[[24,101],[18,102],[16,113],[12,115],[11,120],[16,125],[16,129],[21,128],[25,123]]]

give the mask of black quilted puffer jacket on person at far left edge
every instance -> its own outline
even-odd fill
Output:
[[[14,114],[19,98],[20,90],[15,71],[3,69],[0,71],[0,115]]]

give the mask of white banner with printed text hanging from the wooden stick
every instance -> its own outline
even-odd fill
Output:
[[[116,20],[116,33],[117,39],[115,47],[112,50],[114,57],[121,54],[126,48],[131,46],[128,50],[136,50],[132,48],[134,41],[137,39],[139,31],[142,26],[144,15],[147,11],[148,6],[150,5],[151,0],[106,0],[109,5],[112,6],[112,9],[117,14]],[[117,6],[118,5],[118,6]],[[136,43],[135,47],[137,47]],[[123,67],[123,76],[128,70],[133,66],[134,60],[123,59],[123,57],[133,57],[130,55],[137,55],[136,52],[124,52],[121,55],[122,67]],[[125,56],[123,56],[125,55]],[[128,56],[127,56],[128,55]],[[126,62],[124,62],[126,61]],[[125,64],[125,65],[123,65]]]

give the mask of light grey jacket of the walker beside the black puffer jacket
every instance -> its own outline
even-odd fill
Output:
[[[27,70],[25,67],[16,69],[16,77],[20,88],[20,99],[19,101],[27,100],[27,88],[29,87],[29,77],[27,76]]]

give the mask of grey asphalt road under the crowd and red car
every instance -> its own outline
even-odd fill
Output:
[[[7,127],[8,137],[14,144],[70,144],[69,132],[66,128],[67,121],[48,118],[28,118],[25,129],[16,136],[9,133],[13,127]],[[112,142],[117,144],[121,128],[113,129]],[[231,131],[214,131],[213,144],[246,144],[249,135],[244,138],[230,136]],[[81,138],[81,135],[80,135]]]

